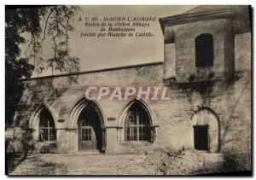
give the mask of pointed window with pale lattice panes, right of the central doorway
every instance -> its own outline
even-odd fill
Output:
[[[148,113],[137,102],[131,105],[125,118],[126,142],[150,142],[151,129]]]

